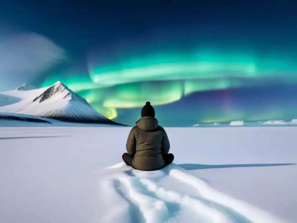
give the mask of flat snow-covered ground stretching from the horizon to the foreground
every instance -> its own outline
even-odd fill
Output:
[[[297,222],[296,127],[165,129],[141,172],[128,127],[0,128],[0,222]]]

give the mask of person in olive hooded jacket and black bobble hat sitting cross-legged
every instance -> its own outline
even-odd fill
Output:
[[[173,162],[168,136],[155,118],[148,101],[141,110],[141,119],[131,129],[122,158],[127,166],[139,170],[158,170]]]

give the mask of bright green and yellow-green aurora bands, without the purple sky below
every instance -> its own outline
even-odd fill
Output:
[[[297,63],[252,54],[222,54],[198,51],[191,54],[148,54],[122,59],[114,64],[88,63],[88,74],[48,76],[41,87],[60,80],[83,96],[99,113],[115,119],[118,109],[141,108],[146,101],[154,106],[167,105],[194,92],[240,87],[265,86],[271,80],[297,82]],[[102,63],[101,63],[102,64]],[[263,120],[278,114],[263,114],[249,120]],[[242,120],[244,114],[224,118],[205,117],[197,122]],[[193,123],[195,124],[195,123]]]

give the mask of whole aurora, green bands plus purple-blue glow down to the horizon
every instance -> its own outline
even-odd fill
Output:
[[[137,120],[146,101],[155,106],[160,122],[169,126],[285,118],[278,108],[279,99],[276,104],[266,103],[271,100],[268,92],[273,87],[283,84],[288,89],[297,83],[297,67],[290,58],[257,57],[243,51],[168,51],[132,54],[106,65],[92,59],[88,61],[88,75],[49,76],[42,87],[61,80],[99,113],[124,124]],[[251,92],[239,97],[244,89]]]

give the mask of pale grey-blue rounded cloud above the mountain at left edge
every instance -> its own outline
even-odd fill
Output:
[[[33,81],[65,59],[66,52],[36,33],[13,34],[0,38],[0,90],[10,90]]]

